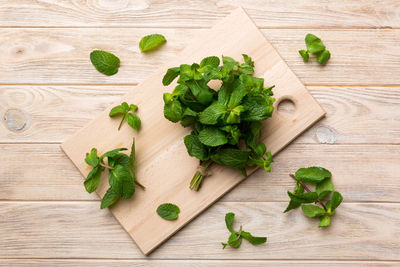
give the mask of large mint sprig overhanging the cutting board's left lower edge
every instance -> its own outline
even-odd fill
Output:
[[[131,198],[135,193],[135,183],[139,184],[136,179],[135,139],[133,139],[129,156],[121,153],[124,150],[127,149],[113,149],[100,157],[96,148],[92,148],[89,153],[86,153],[85,162],[93,167],[84,182],[88,193],[94,192],[99,187],[102,172],[106,168],[109,169],[110,187],[101,201],[101,209],[113,205],[119,198]],[[108,165],[104,162],[105,158],[107,158]]]

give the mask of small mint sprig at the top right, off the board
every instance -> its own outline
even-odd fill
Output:
[[[310,54],[314,54],[317,57],[319,64],[323,65],[328,62],[331,58],[331,53],[326,49],[325,45],[314,34],[307,34],[305,38],[307,50],[299,50],[299,54],[303,58],[304,62],[308,62]]]

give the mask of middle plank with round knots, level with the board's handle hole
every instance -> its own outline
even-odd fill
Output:
[[[0,86],[0,142],[62,142],[132,88]],[[327,116],[296,143],[400,143],[400,86],[307,88]]]

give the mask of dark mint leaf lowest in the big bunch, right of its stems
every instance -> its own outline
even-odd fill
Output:
[[[211,155],[214,162],[239,170],[244,169],[248,158],[248,151],[236,148],[223,148]]]

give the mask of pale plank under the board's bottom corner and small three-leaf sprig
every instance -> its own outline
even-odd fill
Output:
[[[149,259],[400,260],[400,204],[342,204],[328,229],[287,203],[217,203]],[[224,216],[268,242],[225,249]],[[1,258],[139,259],[108,210],[93,202],[0,202]],[[62,229],[62,230],[61,230]]]

